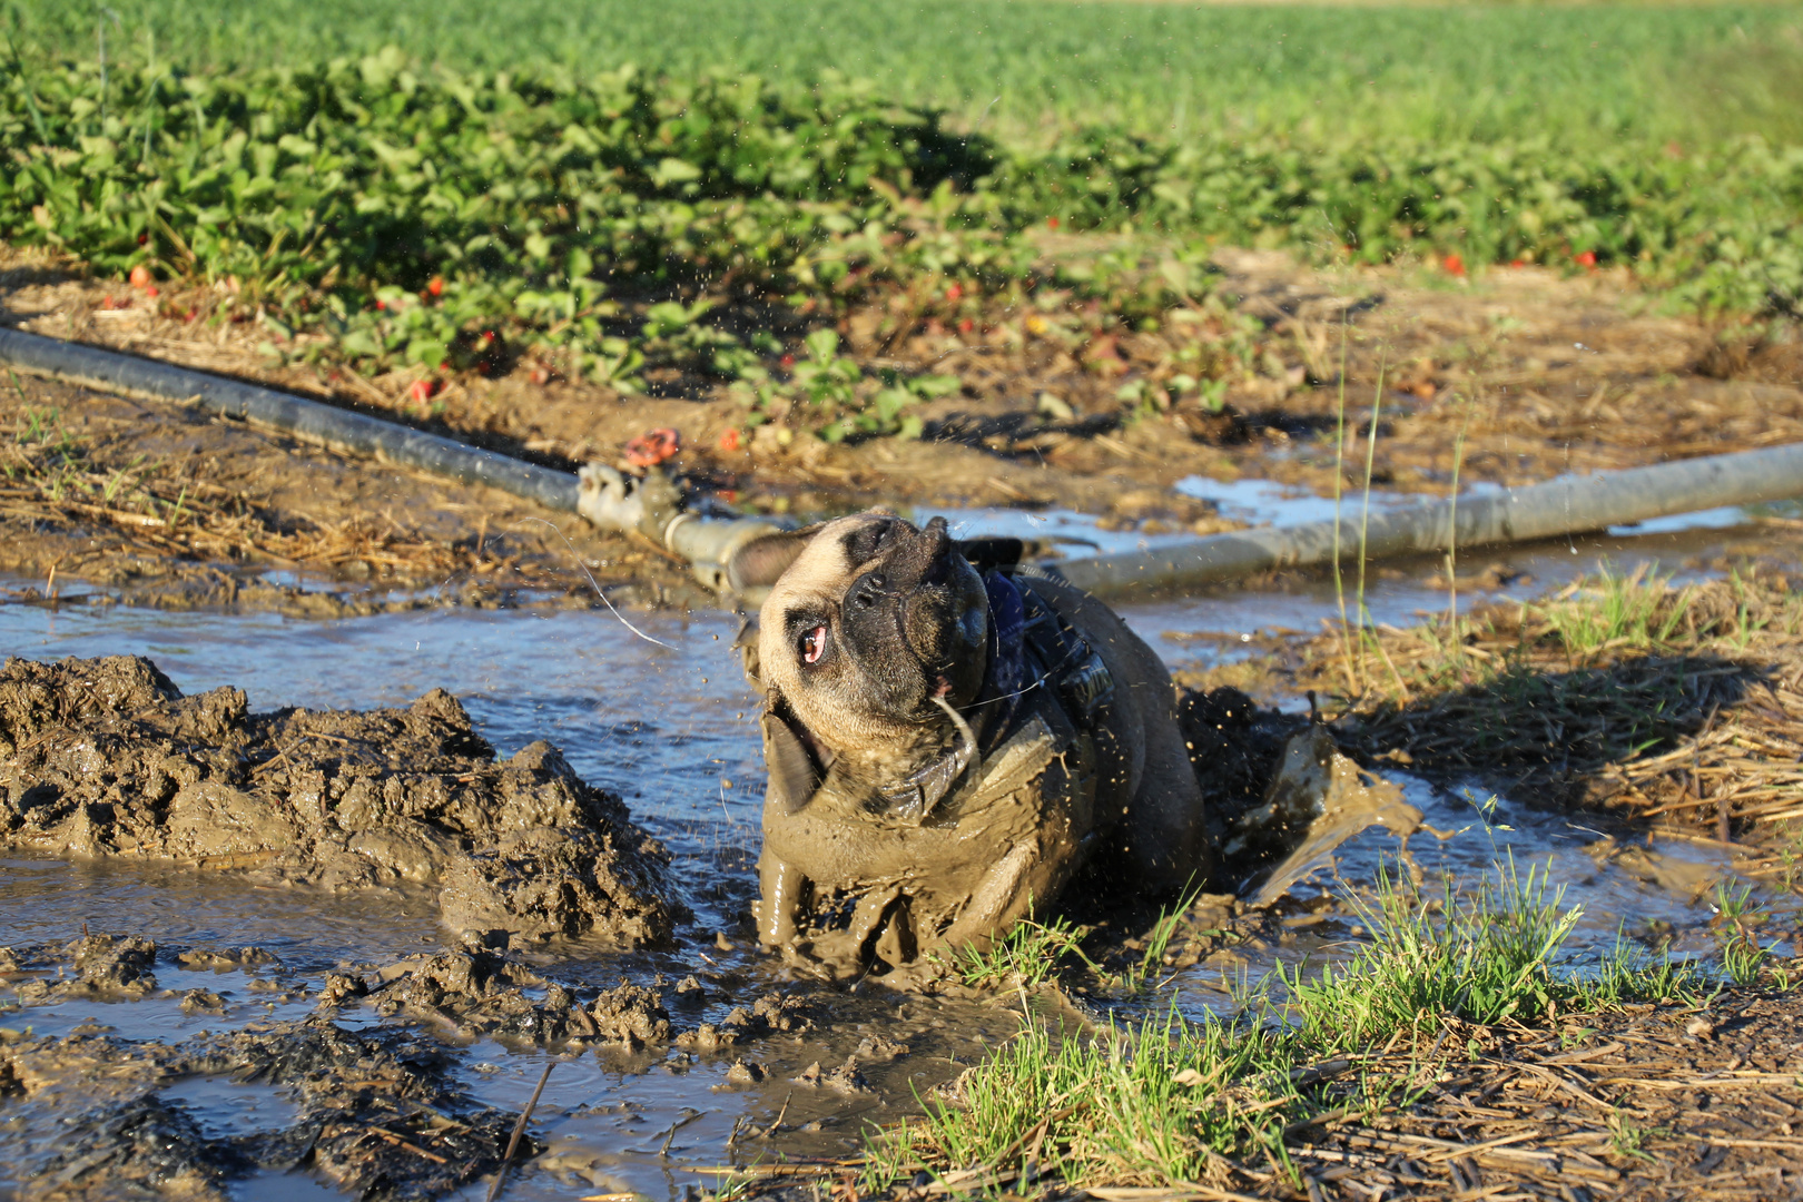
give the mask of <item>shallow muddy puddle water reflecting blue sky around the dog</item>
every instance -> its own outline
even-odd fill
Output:
[[[1282,506],[1282,496],[1248,492],[1239,499],[1257,515],[1287,517],[1282,508],[1271,512],[1273,505]],[[1258,510],[1260,505],[1266,508]],[[1078,515],[966,512],[957,521],[970,533],[1055,533],[1102,550],[1139,544],[1139,535],[1102,532]],[[1599,557],[1626,569],[1643,560],[1657,560],[1666,571],[1697,569],[1695,564],[1725,546],[1754,537],[1742,526],[1720,528],[1718,521],[1725,519],[1711,515],[1677,530],[1515,548],[1473,555],[1468,564],[1475,569],[1506,562],[1520,573],[1506,589],[1524,596],[1594,569]],[[1403,568],[1372,580],[1367,604],[1374,618],[1401,624],[1417,611],[1444,613],[1446,595],[1423,584],[1423,571]],[[1460,602],[1471,596],[1466,591]],[[1334,613],[1338,598],[1329,580],[1300,580],[1282,593],[1221,591],[1125,609],[1167,660],[1195,663],[1242,654],[1242,636],[1318,629]],[[267,615],[0,606],[0,647],[36,660],[144,654],[186,694],[238,685],[249,692],[252,708],[404,705],[442,687],[463,701],[501,755],[550,739],[586,780],[624,795],[638,822],[674,852],[694,924],[669,950],[618,953],[561,946],[530,957],[535,970],[590,991],[622,977],[642,984],[662,980],[678,1031],[719,1024],[734,1006],[750,1006],[772,989],[788,991],[804,1020],[721,1054],[649,1047],[557,1056],[492,1040],[458,1045],[445,1038],[456,1049],[454,1085],[489,1106],[521,1110],[546,1060],[557,1061],[534,1119],[548,1152],[519,1173],[508,1197],[570,1197],[572,1188],[595,1188],[674,1198],[691,1184],[712,1180],[703,1168],[851,1152],[867,1123],[912,1108],[916,1090],[979,1058],[1015,1027],[1015,1018],[992,1004],[896,998],[880,989],[826,995],[786,979],[746,946],[743,914],[755,888],[763,769],[752,726],[755,697],[730,654],[737,620],[719,613],[631,620],[642,634],[590,611],[433,609],[323,624]],[[1547,863],[1565,903],[1585,910],[1576,955],[1612,944],[1623,923],[1630,923],[1630,933],[1648,923],[1670,924],[1679,953],[1713,950],[1704,923],[1709,892],[1729,870],[1720,851],[1673,842],[1635,847],[1625,831],[1536,813],[1511,798],[1491,804],[1487,797],[1442,793],[1406,777],[1399,782],[1432,827],[1408,845],[1423,872],[1469,876],[1511,852],[1524,869]],[[1610,836],[1615,845],[1603,842]],[[1377,865],[1394,863],[1399,851],[1394,836],[1374,829],[1318,865],[1295,894],[1309,897],[1332,885],[1334,876],[1368,885]],[[1165,984],[1159,1002],[1174,998],[1192,1013],[1221,1006],[1233,980],[1257,977],[1280,959],[1343,952],[1356,939],[1349,923],[1345,915],[1296,923],[1282,935],[1235,948],[1233,955],[1181,970]],[[164,948],[155,968],[159,993],[139,1002],[72,1000],[0,1013],[0,1025],[29,1025],[40,1034],[97,1031],[177,1042],[200,1031],[299,1018],[312,1013],[316,1002],[308,991],[319,988],[325,973],[391,964],[444,942],[433,901],[424,894],[330,897],[146,865],[0,861],[0,944],[69,941],[83,924],[155,939]],[[281,964],[195,971],[173,961],[173,952],[197,944],[256,944]],[[703,989],[674,991],[691,973]],[[222,1011],[184,1011],[180,997],[189,989],[220,995]],[[0,1006],[5,1002],[0,991]],[[337,1022],[380,1029],[393,1020],[346,1006]],[[831,1070],[853,1054],[856,1076],[835,1083]],[[191,1114],[204,1132],[220,1130],[222,1137],[260,1130],[256,1125],[279,1126],[288,1114],[279,1090],[215,1078],[189,1078],[164,1087],[160,1096]],[[31,1130],[18,1132],[25,1144],[54,1135],[54,1126]],[[0,1173],[0,1197],[5,1188]],[[467,1193],[481,1197],[480,1189],[485,1188],[472,1186]],[[294,1173],[263,1173],[234,1184],[233,1193],[332,1197]]]

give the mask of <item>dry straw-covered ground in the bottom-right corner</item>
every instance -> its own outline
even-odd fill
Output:
[[[1799,1029],[1803,993],[1744,989],[1556,1031],[1448,1031],[1442,1047],[1466,1047],[1415,1076],[1419,1101],[1331,1123],[1291,1155],[1309,1197],[1794,1198]]]

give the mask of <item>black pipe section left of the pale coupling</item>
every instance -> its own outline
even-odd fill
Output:
[[[0,360],[32,375],[88,384],[108,393],[195,404],[222,418],[278,429],[332,451],[377,456],[465,485],[512,492],[546,508],[575,512],[577,479],[570,472],[256,384],[7,328],[0,328]]]

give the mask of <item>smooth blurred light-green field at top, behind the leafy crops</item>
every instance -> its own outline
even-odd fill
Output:
[[[1803,5],[1271,7],[1057,0],[110,0],[115,54],[283,65],[395,43],[490,70],[636,63],[694,76],[826,70],[1026,132],[1300,130],[1596,142],[1803,141]],[[23,36],[94,58],[99,14],[16,0]],[[993,108],[990,108],[993,103]]]

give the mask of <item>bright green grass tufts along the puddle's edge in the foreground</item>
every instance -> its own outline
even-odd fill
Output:
[[[1561,906],[1543,870],[1513,861],[1464,897],[1450,885],[1424,897],[1383,874],[1374,896],[1347,901],[1370,942],[1340,964],[1280,971],[1237,1016],[1195,1022],[1172,1007],[1087,1034],[1024,1018],[948,1097],[873,1135],[865,1186],[885,1189],[927,1166],[961,1193],[1024,1191],[1044,1179],[1183,1189],[1246,1164],[1300,1186],[1286,1139],[1408,1105],[1435,1072],[1421,1040],[1437,1038],[1433,1061],[1455,1031],[1451,1047],[1468,1052],[1489,1024],[1689,998],[1700,988],[1691,970],[1626,946],[1594,971],[1561,968],[1579,912]],[[1374,1054],[1381,1042],[1403,1051]],[[1615,1135],[1643,1139],[1630,1126]]]

